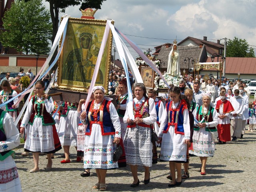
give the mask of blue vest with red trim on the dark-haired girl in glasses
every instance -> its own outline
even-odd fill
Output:
[[[174,132],[176,134],[184,135],[184,127],[183,127],[183,112],[184,109],[187,109],[187,104],[185,100],[180,101],[180,105],[176,109],[172,109],[172,101],[166,104],[167,118],[168,124],[166,124],[163,133],[167,133],[170,126],[174,126]]]

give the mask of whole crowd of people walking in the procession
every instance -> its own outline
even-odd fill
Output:
[[[129,78],[133,94],[129,103],[126,78]],[[9,81],[1,83],[0,104],[19,92],[15,91],[18,82],[10,78]],[[62,147],[64,159],[60,163],[70,163],[70,146],[74,146],[76,161],[83,159],[84,171],[80,175],[88,177],[92,169],[96,170],[98,180],[92,189],[106,190],[107,170],[127,164],[133,177],[130,187],[135,188],[141,183],[138,166],[143,166],[143,183],[148,184],[150,167],[158,159],[169,162],[167,179],[171,182],[168,187],[179,186],[182,180],[190,177],[191,155],[200,158],[200,174],[204,176],[207,174],[207,158],[214,156],[215,140],[218,140],[217,144],[226,144],[242,139],[248,122],[248,130],[253,131],[256,100],[248,102],[246,87],[239,80],[233,87],[228,80],[218,85],[219,82],[216,84],[213,79],[206,82],[201,77],[195,80],[187,77],[181,79],[178,86],[170,85],[168,98],[162,98],[154,89],[146,90],[143,83],[134,83],[130,71],[126,75],[124,70],[113,70],[108,90],[94,86],[86,107],[86,98],[75,103],[55,102],[44,93],[45,82],[38,80],[19,127],[13,124],[18,112],[15,100],[0,110],[0,134],[3,134],[0,153],[8,150],[7,154],[12,154],[11,149],[19,144],[20,133],[25,138],[24,156],[32,152],[34,159],[30,173],[40,172],[39,155],[42,153],[47,154],[46,170],[51,170],[54,153]],[[105,96],[110,92],[116,96],[114,101]],[[10,122],[6,124],[8,131],[4,122]],[[3,141],[9,142],[8,147],[4,148]],[[114,153],[119,148],[122,149],[120,158],[115,160]],[[13,191],[20,191],[12,156],[7,155],[1,161],[12,162],[10,172],[15,172],[16,177],[0,184],[0,189],[12,186]]]

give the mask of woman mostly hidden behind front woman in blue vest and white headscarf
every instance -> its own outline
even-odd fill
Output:
[[[89,92],[90,86],[87,87],[87,93]],[[90,102],[94,100],[94,95],[91,95]],[[85,111],[85,100],[81,99],[78,104],[77,114],[80,118],[82,111]],[[87,125],[82,124],[80,121],[77,128],[77,154],[76,156],[80,158],[84,158],[84,139],[85,139],[85,132],[86,132]],[[80,174],[82,177],[90,176],[90,169],[86,169],[84,172]]]

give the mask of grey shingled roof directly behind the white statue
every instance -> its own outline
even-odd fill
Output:
[[[198,59],[200,60],[200,62],[205,62],[205,60],[202,61],[202,58],[201,58],[201,55],[204,49],[205,49],[204,46],[202,46],[201,48],[200,46],[178,46],[179,55],[180,55],[180,68],[188,68],[188,58],[191,58],[190,68],[194,67],[192,66],[192,58],[194,58],[195,62],[197,62]],[[167,68],[168,56],[171,50],[172,50],[172,46],[168,48],[166,48],[166,46],[162,46],[158,54],[158,59],[161,59],[161,68]],[[187,60],[186,64],[184,63],[185,58]]]

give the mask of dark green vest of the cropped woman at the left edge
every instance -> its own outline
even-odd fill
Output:
[[[7,112],[0,109],[0,141],[6,141],[6,135],[4,133],[4,127],[3,127],[3,120],[4,120],[4,116]],[[8,125],[6,125],[8,126]],[[7,144],[3,144],[2,145],[2,149],[7,149],[8,145]],[[6,150],[3,152],[0,152],[0,161],[5,160],[8,156],[10,155],[14,155],[14,151],[13,150]]]

